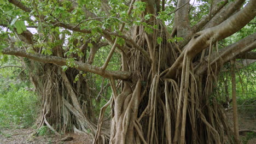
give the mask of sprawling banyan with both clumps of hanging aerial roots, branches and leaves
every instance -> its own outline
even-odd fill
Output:
[[[255,21],[255,0],[0,3],[0,49],[28,70],[38,127],[83,131],[94,143],[237,142],[214,93],[224,65],[255,59],[255,32],[222,45]],[[98,116],[90,74],[112,90]]]

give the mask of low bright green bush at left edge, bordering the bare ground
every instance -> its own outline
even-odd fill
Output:
[[[6,87],[5,87],[6,88]],[[0,126],[10,124],[28,127],[34,122],[37,113],[37,97],[26,91],[22,83],[9,83],[0,93]]]

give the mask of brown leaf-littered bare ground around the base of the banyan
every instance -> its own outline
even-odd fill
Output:
[[[256,130],[256,113],[254,111],[248,112],[246,110],[239,110],[239,127],[240,129]],[[227,112],[229,123],[232,126],[232,110]],[[66,134],[60,136],[45,135],[45,136],[31,136],[32,128],[2,128],[0,129],[0,144],[51,144],[51,143],[67,143],[67,144],[90,144],[93,142],[92,137],[86,134]],[[71,141],[63,141],[65,137],[73,137]],[[240,135],[242,143],[255,144],[255,134]]]

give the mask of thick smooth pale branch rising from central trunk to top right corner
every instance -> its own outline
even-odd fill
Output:
[[[195,57],[199,52],[208,47],[211,42],[214,43],[217,40],[222,40],[239,31],[255,17],[255,5],[256,0],[251,0],[245,8],[220,23],[220,25],[196,33],[194,38],[185,46],[185,49],[188,49],[188,55]],[[173,77],[176,74],[176,69],[181,68],[183,57],[184,55],[182,54],[179,56],[172,67],[168,69],[168,73],[164,76],[165,78]]]

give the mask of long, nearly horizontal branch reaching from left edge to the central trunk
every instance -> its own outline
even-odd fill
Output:
[[[43,62],[43,63],[53,63],[57,65],[66,65],[66,58],[56,57],[56,56],[44,56],[39,54],[27,53],[25,50],[21,49],[3,49],[2,53],[6,55],[15,55],[20,57],[26,57],[33,59],[34,61]],[[102,77],[113,77],[114,79],[128,79],[131,75],[129,71],[104,71],[99,67],[94,65],[90,65],[87,63],[82,63],[78,61],[74,61],[75,69],[88,71],[94,74],[101,75]]]

